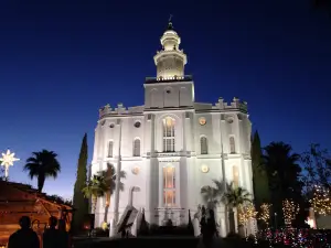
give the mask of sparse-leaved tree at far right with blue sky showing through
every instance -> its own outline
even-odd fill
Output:
[[[312,193],[314,186],[331,191],[331,157],[327,149],[310,144],[309,151],[301,154],[301,162],[306,172],[302,175],[306,194]]]

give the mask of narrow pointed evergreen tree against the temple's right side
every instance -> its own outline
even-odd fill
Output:
[[[270,203],[268,175],[263,163],[263,153],[258,132],[255,131],[252,142],[252,171],[255,208],[260,209],[261,204]]]

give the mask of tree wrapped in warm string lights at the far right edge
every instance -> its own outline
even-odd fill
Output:
[[[329,190],[316,185],[313,190],[313,197],[309,202],[316,213],[320,215],[331,214],[331,197]]]

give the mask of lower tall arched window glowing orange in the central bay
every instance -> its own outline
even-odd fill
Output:
[[[163,168],[163,204],[175,205],[175,171],[173,166]]]

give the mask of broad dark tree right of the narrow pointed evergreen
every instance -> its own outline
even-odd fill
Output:
[[[292,153],[292,148],[284,142],[271,142],[265,149],[264,163],[269,180],[271,204],[277,220],[274,224],[282,226],[282,201],[292,198],[296,203],[302,202],[302,183],[299,181],[301,168],[298,165],[300,157]]]

